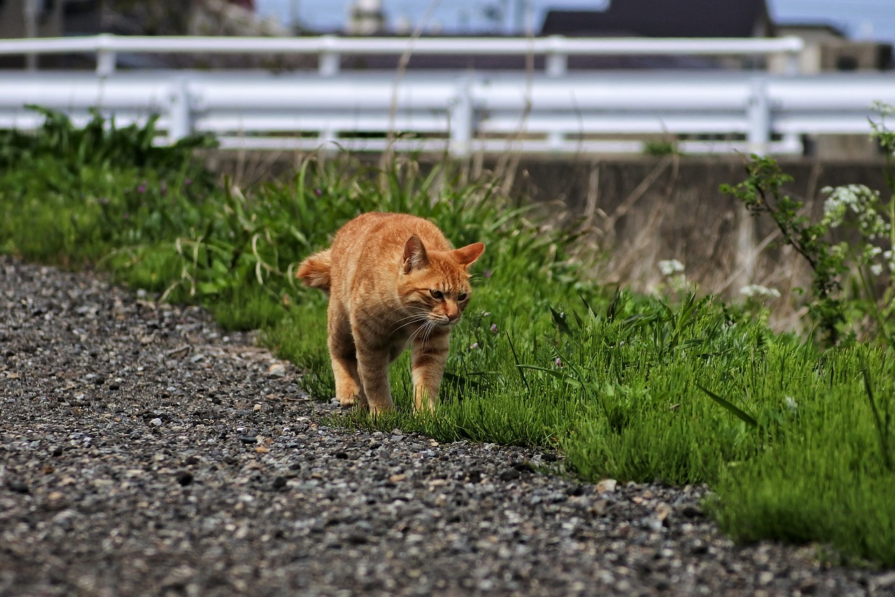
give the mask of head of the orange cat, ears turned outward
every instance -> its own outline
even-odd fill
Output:
[[[473,295],[466,269],[484,250],[484,244],[473,243],[451,251],[427,251],[417,236],[411,236],[397,285],[405,309],[438,325],[456,324]]]

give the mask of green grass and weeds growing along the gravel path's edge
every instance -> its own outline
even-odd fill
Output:
[[[876,133],[891,154],[895,136]],[[339,424],[560,450],[592,481],[708,483],[707,506],[737,540],[814,542],[825,558],[895,567],[895,178],[858,200],[829,190],[839,201],[821,223],[800,215],[771,160],[754,158],[727,189],[811,262],[814,331],[797,337],[772,333],[757,299],[645,296],[580,277],[592,258],[575,234],[447,160],[309,158],[240,188],[195,157],[209,140],[161,149],[154,134],[151,122],[77,129],[56,114],[35,135],[0,132],[0,251],[105,269],[158,300],[204,305],[227,328],[260,328],[328,400],[325,296],[294,267],[362,211],[430,217],[457,245],[487,245],[443,404],[411,413],[405,355],[392,369],[399,412]],[[828,238],[837,226],[862,244]]]

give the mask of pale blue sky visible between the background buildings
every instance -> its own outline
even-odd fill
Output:
[[[673,1],[673,0],[669,0]],[[437,0],[434,0],[437,2]],[[723,0],[719,0],[723,2]],[[895,43],[895,0],[766,0],[771,18],[780,23],[810,22],[834,25],[849,38]],[[275,16],[288,24],[297,17],[315,30],[340,30],[352,0],[255,0],[262,16]],[[390,28],[415,28],[433,2],[382,0]],[[519,7],[531,5],[530,16]],[[428,20],[430,30],[476,33],[499,28],[514,32],[527,20],[541,28],[548,8],[598,10],[607,0],[441,0]],[[505,7],[503,18],[496,18]],[[498,9],[498,10],[492,10]],[[523,29],[524,31],[524,29]]]

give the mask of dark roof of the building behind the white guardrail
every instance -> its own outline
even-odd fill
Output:
[[[612,0],[605,11],[549,11],[541,35],[751,38],[769,23],[764,0]]]

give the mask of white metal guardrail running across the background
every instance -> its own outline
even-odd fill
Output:
[[[339,70],[347,54],[546,55],[544,72]],[[92,52],[97,72],[0,71],[0,128],[33,129],[34,104],[75,122],[160,115],[170,142],[223,148],[588,153],[675,142],[686,153],[801,153],[803,137],[865,134],[895,104],[891,73],[567,71],[568,55],[794,56],[801,40],[585,38],[55,38],[0,40],[0,55]],[[115,69],[118,53],[316,54],[317,72]],[[335,58],[333,58],[335,56]],[[391,138],[389,138],[391,137]]]

